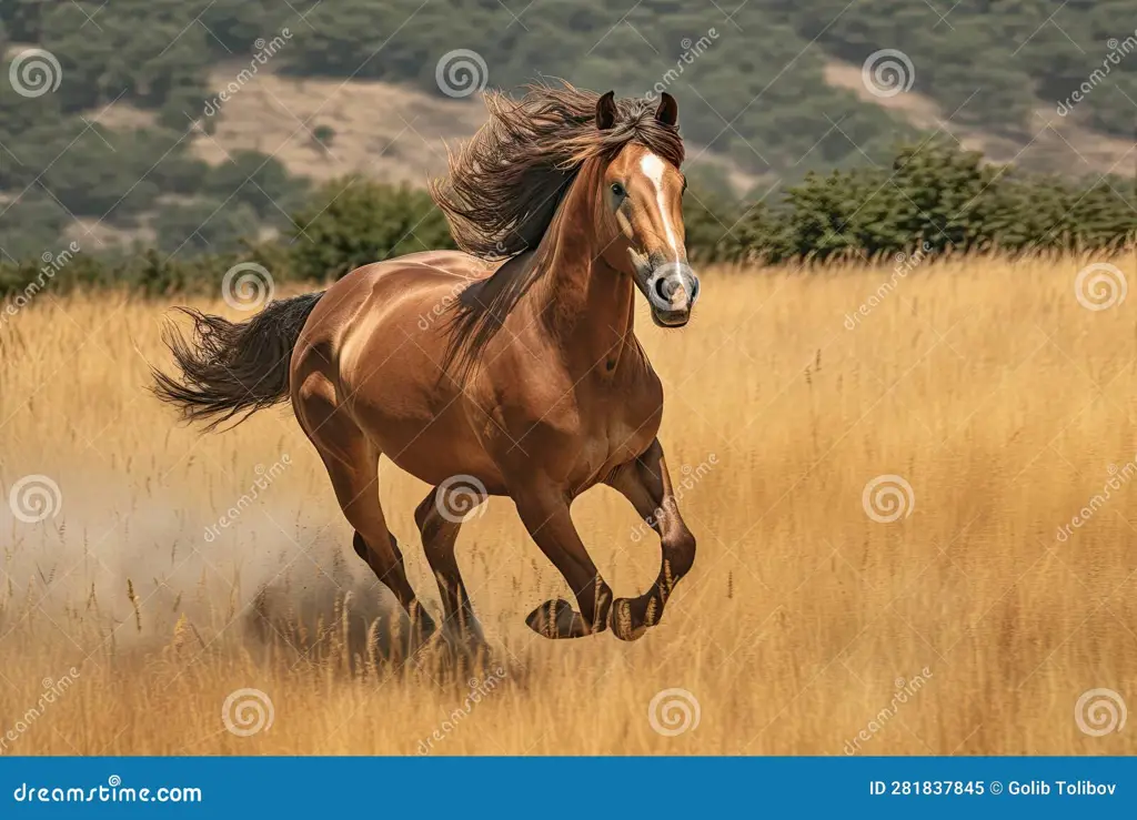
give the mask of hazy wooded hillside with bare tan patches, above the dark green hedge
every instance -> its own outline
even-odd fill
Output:
[[[1129,0],[2,0],[0,49],[0,259],[287,231],[313,183],[421,185],[481,122],[478,90],[550,77],[674,94],[707,201],[777,202],[937,132],[1129,177],[1137,108]],[[902,89],[866,80],[881,55]]]

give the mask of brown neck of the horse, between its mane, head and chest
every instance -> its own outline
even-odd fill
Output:
[[[566,359],[584,368],[615,362],[634,343],[634,287],[630,276],[608,267],[596,242],[594,185],[575,181],[545,241],[549,266],[541,312]],[[539,256],[541,256],[539,253]],[[581,374],[583,375],[583,374]]]

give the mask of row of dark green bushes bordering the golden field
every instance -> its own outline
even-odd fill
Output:
[[[779,265],[921,251],[1117,252],[1137,235],[1132,182],[1078,185],[982,162],[948,144],[901,151],[885,168],[810,174],[774,204],[717,201],[692,190],[684,200],[688,251],[698,262]],[[66,263],[43,258],[0,263],[0,293],[30,298],[51,287],[126,287],[148,294],[217,293],[223,274],[254,262],[274,282],[313,284],[368,262],[454,248],[441,212],[416,189],[333,181],[273,242],[248,240],[190,258],[155,249],[130,257],[81,249]]]

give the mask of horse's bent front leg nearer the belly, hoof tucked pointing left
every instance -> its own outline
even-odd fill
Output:
[[[565,493],[537,482],[511,494],[522,524],[564,576],[580,608],[575,612],[567,601],[548,601],[533,610],[525,622],[547,638],[579,638],[605,629],[612,589],[604,583],[576,533]]]

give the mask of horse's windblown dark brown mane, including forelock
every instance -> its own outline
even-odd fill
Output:
[[[599,99],[568,83],[526,86],[520,100],[487,93],[489,122],[450,154],[449,178],[431,184],[462,250],[487,260],[537,250],[581,167],[590,159],[609,162],[631,142],[677,168],[682,164],[679,131],[656,118],[653,103],[617,100],[614,124],[601,131],[596,123]],[[451,360],[473,362],[543,273],[542,261],[506,262],[462,293]]]

